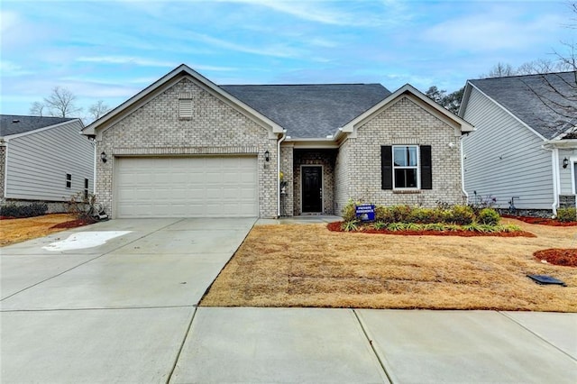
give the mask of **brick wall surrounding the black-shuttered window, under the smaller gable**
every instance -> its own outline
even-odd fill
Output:
[[[434,113],[401,97],[341,146],[335,164],[335,212],[349,198],[383,206],[463,204],[459,136]],[[380,147],[394,144],[432,146],[433,189],[411,193],[381,189]]]

